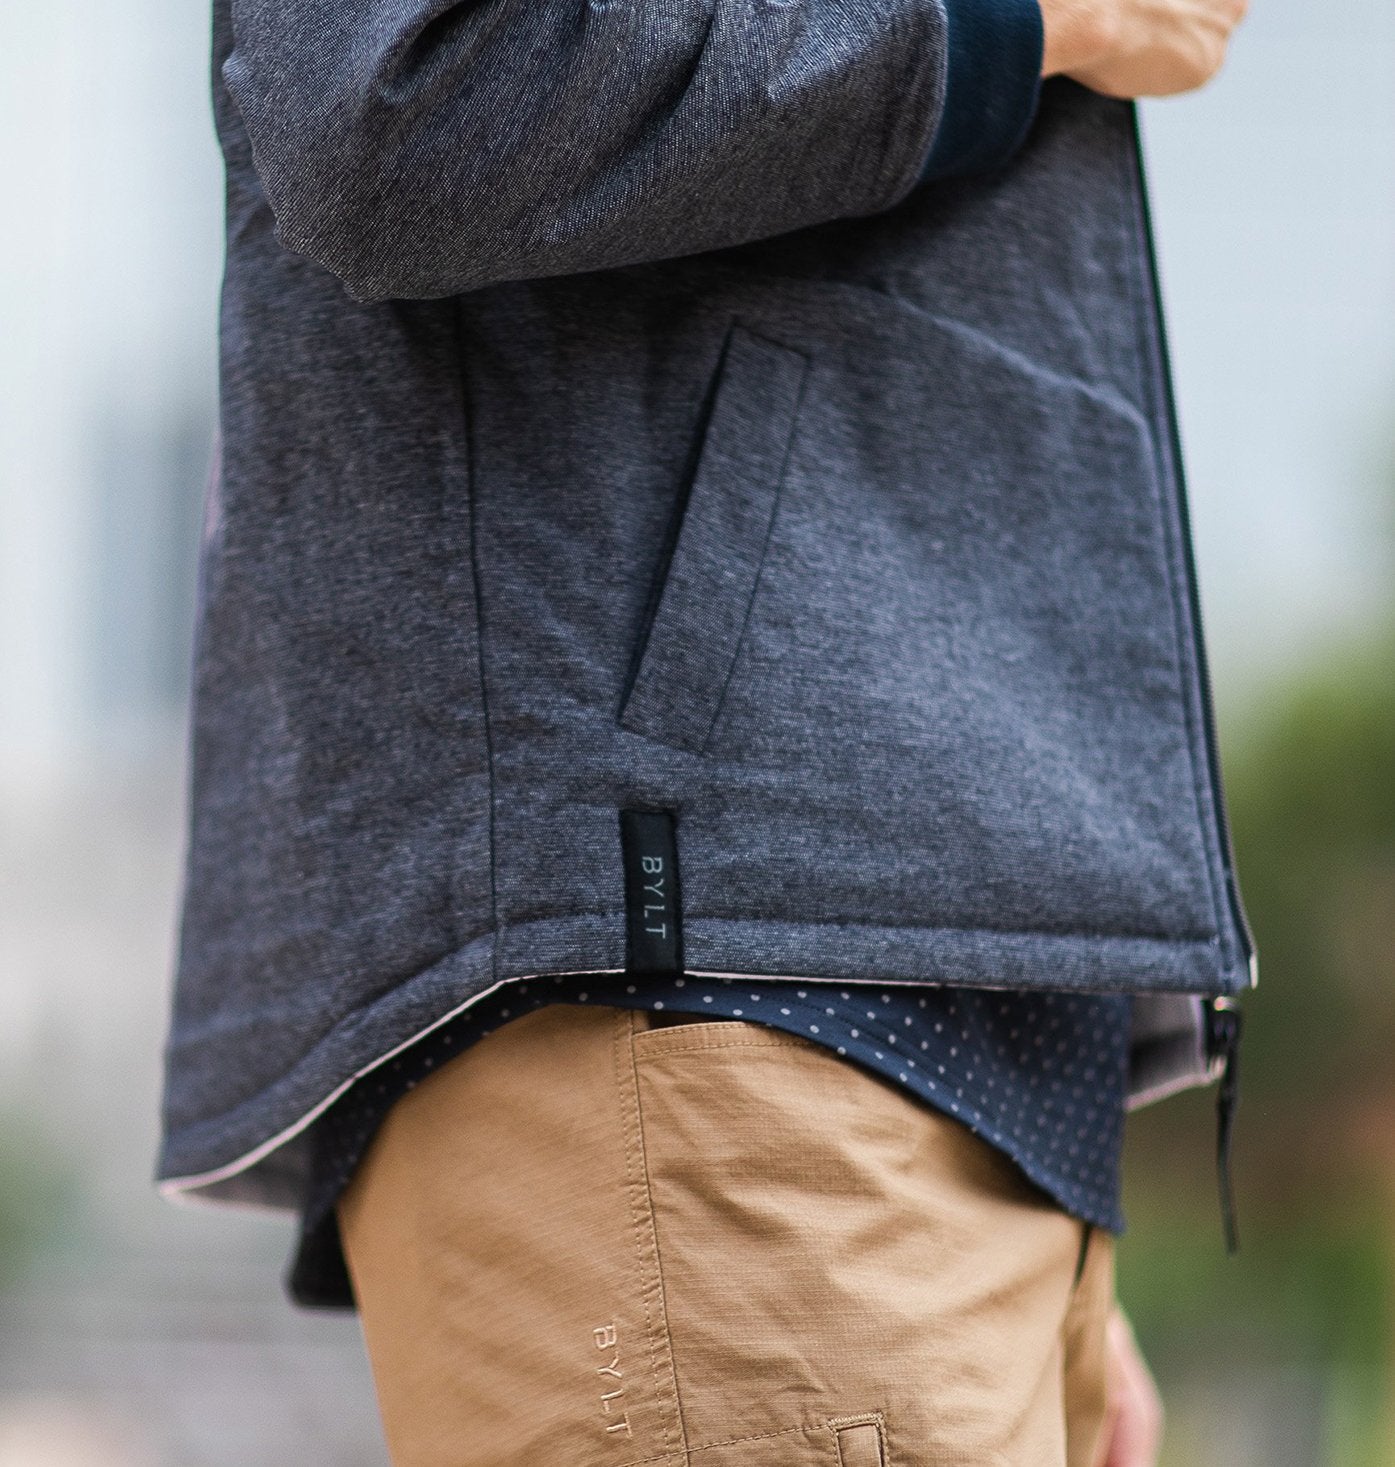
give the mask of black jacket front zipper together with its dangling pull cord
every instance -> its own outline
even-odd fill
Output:
[[[1193,651],[1197,659],[1197,682],[1201,700],[1201,726],[1206,738],[1206,760],[1210,775],[1212,801],[1216,832],[1220,841],[1220,866],[1225,879],[1226,902],[1235,930],[1240,934],[1241,952],[1250,970],[1250,987],[1259,981],[1254,934],[1240,896],[1235,877],[1235,848],[1231,841],[1231,822],[1226,814],[1225,789],[1220,775],[1220,751],[1216,741],[1216,713],[1212,701],[1210,669],[1206,660],[1206,640],[1201,634],[1201,596],[1197,584],[1196,556],[1191,544],[1191,513],[1187,503],[1187,475],[1182,467],[1182,439],[1178,427],[1176,399],[1172,392],[1172,362],[1168,351],[1168,326],[1162,310],[1162,280],[1157,268],[1157,249],[1153,239],[1153,220],[1149,210],[1149,182],[1143,160],[1143,132],[1137,103],[1129,103],[1134,141],[1134,167],[1137,176],[1138,214],[1143,229],[1144,258],[1147,260],[1147,285],[1153,312],[1154,367],[1160,378],[1163,412],[1168,427],[1168,445],[1172,456],[1172,483],[1182,540],[1182,562],[1187,572],[1187,596],[1191,603]],[[1235,1228],[1235,1193],[1231,1184],[1231,1141],[1235,1127],[1235,1111],[1240,1105],[1240,1005],[1232,998],[1212,998],[1204,1005],[1206,1012],[1206,1058],[1219,1072],[1216,1090],[1216,1177],[1220,1188],[1220,1222],[1228,1253],[1238,1245]]]

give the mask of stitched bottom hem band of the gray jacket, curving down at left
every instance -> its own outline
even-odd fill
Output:
[[[686,971],[807,983],[879,981],[1140,993],[1238,993],[1215,939],[1000,933],[936,927],[685,920]],[[230,1111],[167,1131],[155,1181],[167,1197],[296,1210],[310,1125],[355,1080],[506,983],[553,973],[623,973],[625,918],[543,918],[484,934],[340,1018],[286,1074]],[[277,1022],[258,1014],[257,1024]],[[1193,1055],[1184,1043],[1181,1052]],[[1175,1062],[1151,1094],[1203,1084]],[[1143,1103],[1132,1100],[1131,1103]]]

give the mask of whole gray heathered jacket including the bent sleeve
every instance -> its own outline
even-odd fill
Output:
[[[620,810],[689,971],[1132,990],[1134,1099],[1215,1072],[1132,109],[1052,81],[975,156],[964,4],[219,0],[169,1190],[295,1206],[355,1075],[632,967]]]

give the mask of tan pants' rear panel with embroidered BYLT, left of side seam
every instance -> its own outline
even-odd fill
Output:
[[[339,1222],[393,1467],[689,1467],[631,1024],[510,1020],[365,1153]]]

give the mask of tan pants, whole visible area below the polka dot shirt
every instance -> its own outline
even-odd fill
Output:
[[[797,1034],[549,1005],[339,1204],[395,1467],[1093,1467],[1113,1240]]]

